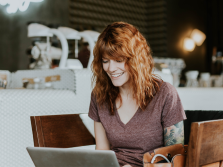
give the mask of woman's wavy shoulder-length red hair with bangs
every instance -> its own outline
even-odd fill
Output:
[[[102,58],[124,60],[128,66],[134,98],[142,110],[159,91],[160,78],[152,74],[154,63],[151,49],[146,39],[133,25],[114,22],[108,25],[98,37],[94,47],[94,60],[91,64],[94,85],[93,94],[99,106],[108,105],[114,115],[114,104],[122,98],[119,88],[115,87],[103,70]]]

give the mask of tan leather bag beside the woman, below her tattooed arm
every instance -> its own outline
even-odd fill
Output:
[[[161,156],[165,156],[170,163],[160,163],[165,160]],[[153,163],[151,163],[154,156],[157,156]],[[184,167],[187,156],[187,145],[175,144],[167,147],[155,149],[153,153],[145,153],[143,156],[143,167]]]

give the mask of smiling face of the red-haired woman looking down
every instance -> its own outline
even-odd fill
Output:
[[[116,87],[124,87],[129,83],[129,72],[125,61],[117,61],[108,58],[102,58],[104,71],[110,77]]]

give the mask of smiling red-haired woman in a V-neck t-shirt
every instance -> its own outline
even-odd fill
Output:
[[[143,166],[143,154],[184,143],[186,119],[175,88],[152,74],[151,49],[132,25],[115,22],[100,34],[92,63],[89,109],[97,150],[113,150],[121,166]]]

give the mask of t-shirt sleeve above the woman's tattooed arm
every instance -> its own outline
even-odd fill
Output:
[[[164,128],[187,119],[177,90],[167,83],[165,93],[166,98],[162,111],[162,124]]]

